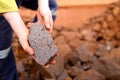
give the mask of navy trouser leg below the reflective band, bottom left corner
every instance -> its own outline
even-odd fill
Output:
[[[18,80],[12,50],[6,58],[0,59],[0,80]]]

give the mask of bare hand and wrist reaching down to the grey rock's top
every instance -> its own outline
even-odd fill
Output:
[[[38,1],[38,9],[37,9],[37,19],[38,22],[41,22],[46,26],[47,30],[52,32],[53,29],[53,19],[52,13],[49,9],[48,0],[40,0]]]

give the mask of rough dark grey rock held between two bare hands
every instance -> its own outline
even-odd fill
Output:
[[[58,51],[51,34],[40,23],[33,23],[30,28],[29,43],[34,50],[35,60],[40,65],[45,65]]]

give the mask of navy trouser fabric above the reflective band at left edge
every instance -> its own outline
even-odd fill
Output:
[[[4,17],[0,17],[0,50],[4,50],[11,45],[12,29]]]

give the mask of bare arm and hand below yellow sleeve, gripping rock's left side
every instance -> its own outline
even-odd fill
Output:
[[[4,13],[3,16],[9,22],[14,32],[17,34],[23,49],[30,55],[33,55],[33,49],[29,46],[27,39],[29,31],[26,28],[24,22],[22,21],[19,12],[8,12]]]

